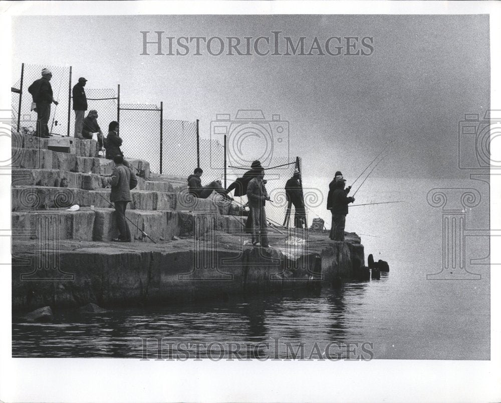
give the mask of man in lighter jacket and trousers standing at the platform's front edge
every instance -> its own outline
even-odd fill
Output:
[[[266,221],[266,200],[268,192],[264,184],[265,169],[255,166],[256,177],[251,179],[247,185],[247,199],[252,217],[252,244],[255,246],[270,247],[268,243],[268,229]],[[248,218],[247,218],[248,220]]]

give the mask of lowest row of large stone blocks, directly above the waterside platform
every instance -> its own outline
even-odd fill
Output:
[[[177,211],[127,210],[126,217],[156,242],[175,236],[200,236],[208,230],[240,231],[240,217]],[[151,242],[128,221],[131,236]],[[82,208],[79,211],[49,210],[12,213],[12,233],[16,240],[111,241],[118,236],[116,213],[111,208]]]

